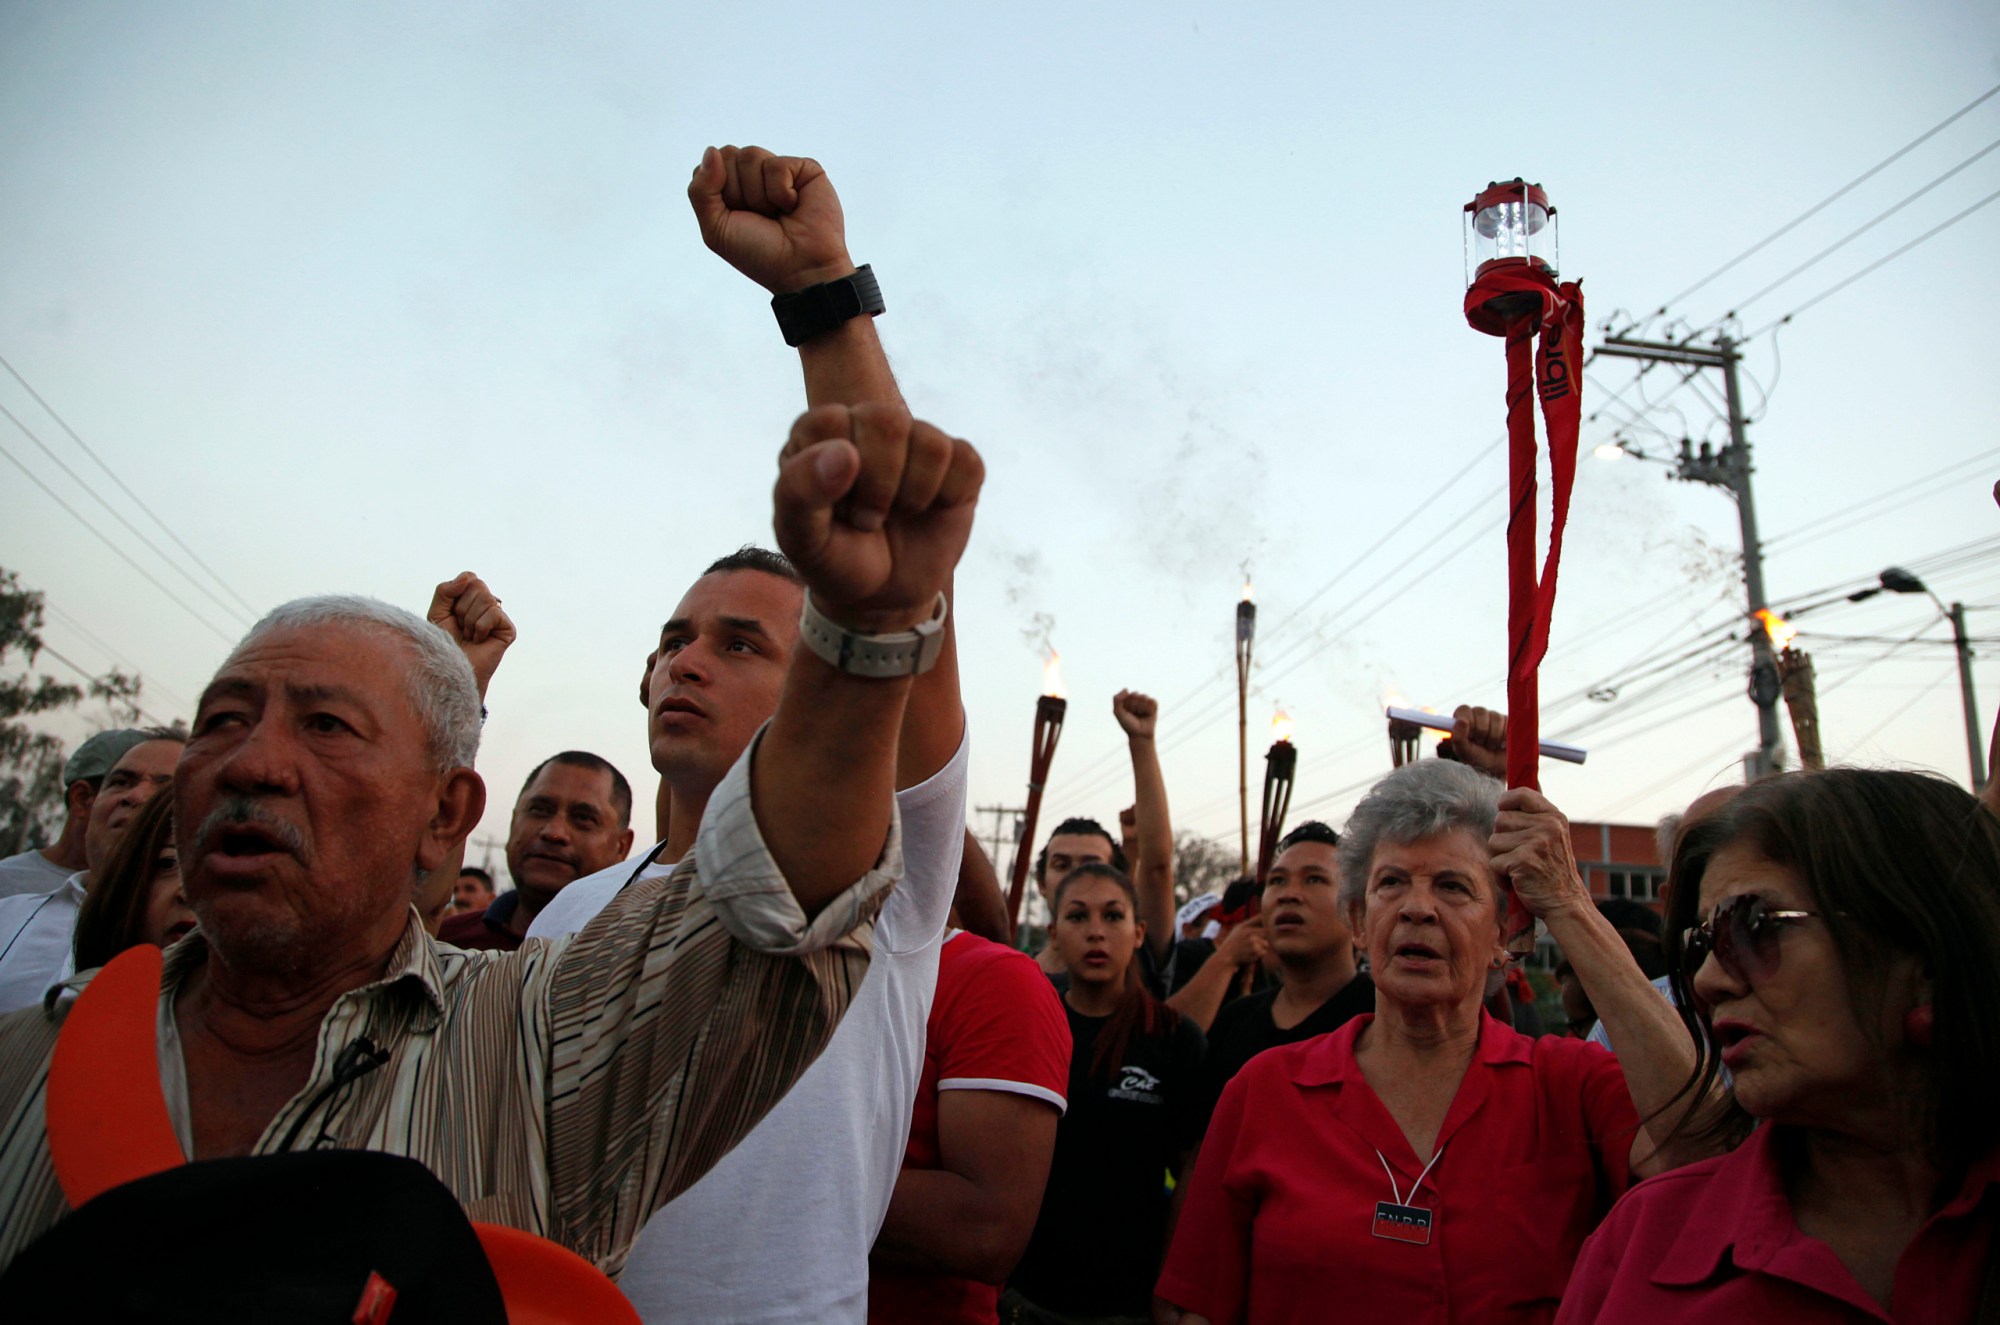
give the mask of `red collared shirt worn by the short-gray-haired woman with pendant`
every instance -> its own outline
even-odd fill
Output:
[[[1584,1237],[1626,1189],[1638,1115],[1618,1061],[1482,1013],[1480,1047],[1424,1165],[1340,1031],[1258,1055],[1202,1141],[1160,1297],[1214,1325],[1550,1321]],[[1380,1159],[1378,1159],[1380,1155]],[[1396,1187],[1430,1241],[1376,1237]]]

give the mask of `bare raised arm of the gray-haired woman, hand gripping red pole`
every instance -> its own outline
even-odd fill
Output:
[[[1618,1045],[1626,1089],[1646,1121],[1632,1141],[1632,1173],[1648,1177],[1706,1159],[1708,1151],[1662,1147],[1674,1125],[1700,1103],[1694,1097],[1674,1099],[1694,1075],[1694,1045],[1688,1043],[1680,1015],[1652,987],[1624,939],[1590,901],[1570,849],[1568,819],[1538,791],[1504,791],[1488,851],[1492,867],[1514,883],[1514,895],[1548,925],[1548,937],[1562,945],[1604,1031]]]

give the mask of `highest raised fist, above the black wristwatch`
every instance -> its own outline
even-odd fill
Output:
[[[840,194],[810,156],[708,148],[688,182],[702,242],[772,294],[854,270]]]

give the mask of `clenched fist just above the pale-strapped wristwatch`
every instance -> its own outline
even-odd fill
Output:
[[[778,454],[772,526],[818,608],[888,634],[930,618],[972,534],[986,462],[894,404],[822,404]]]

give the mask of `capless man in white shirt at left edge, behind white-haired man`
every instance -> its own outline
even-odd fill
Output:
[[[90,889],[90,871],[110,861],[126,825],[174,781],[186,737],[170,727],[146,727],[132,735],[138,741],[126,745],[92,793],[84,825],[86,869],[66,875],[46,893],[0,897],[0,1013],[42,1003],[70,979],[70,937]]]

